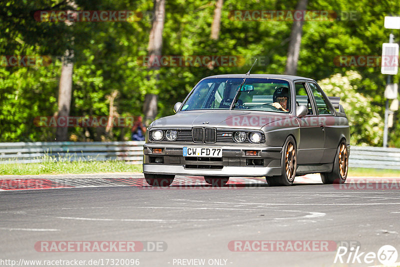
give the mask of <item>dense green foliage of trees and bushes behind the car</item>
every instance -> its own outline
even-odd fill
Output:
[[[109,115],[113,105],[121,116],[142,113],[147,92],[158,94],[159,116],[172,113],[202,77],[219,73],[244,73],[255,57],[252,73],[282,73],[291,20],[235,20],[232,10],[292,10],[294,0],[225,0],[218,40],[210,39],[214,0],[169,0],[165,4],[164,55],[239,55],[238,66],[165,66],[148,70],[140,58],[147,55],[152,0],[75,0],[79,10],[135,10],[142,17],[122,22],[36,21],[37,10],[70,9],[62,0],[0,1],[0,55],[50,55],[48,66],[0,66],[1,141],[49,141],[55,129],[37,127],[37,116],[57,110],[59,60],[65,49],[74,50],[72,116]],[[380,67],[337,66],[339,55],[380,55],[390,30],[383,17],[400,12],[400,1],[316,0],[309,10],[334,10],[337,17],[304,22],[298,75],[321,80],[329,95],[340,95],[351,122],[351,143],[381,145],[385,75]],[[352,11],[351,11],[352,10]],[[353,12],[353,19],[346,14]],[[347,13],[346,13],[347,12]],[[398,42],[400,31],[394,30]],[[349,72],[349,70],[351,70]],[[356,72],[355,72],[356,71]],[[159,79],[155,79],[155,76]],[[394,76],[398,82],[399,75]],[[155,86],[156,85],[156,86]],[[157,88],[156,90],[154,88]],[[390,129],[389,145],[400,146],[398,116]],[[122,140],[129,128],[111,132],[97,127],[69,128],[71,140]]]

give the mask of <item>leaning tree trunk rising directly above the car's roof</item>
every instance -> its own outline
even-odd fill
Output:
[[[298,0],[296,10],[305,10],[308,0]],[[284,73],[287,75],[296,75],[298,53],[300,51],[301,34],[303,31],[304,19],[294,20],[291,26],[290,42],[287,51],[286,67]]]

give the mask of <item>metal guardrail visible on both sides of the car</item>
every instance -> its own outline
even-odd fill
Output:
[[[123,142],[4,142],[0,163],[42,162],[44,156],[68,160],[118,159],[142,162],[144,141]],[[400,148],[351,146],[350,167],[400,169]]]

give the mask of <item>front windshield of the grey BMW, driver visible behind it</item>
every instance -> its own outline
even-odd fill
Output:
[[[232,109],[290,112],[289,82],[268,78],[204,79],[194,87],[181,110],[229,109],[233,99]]]

